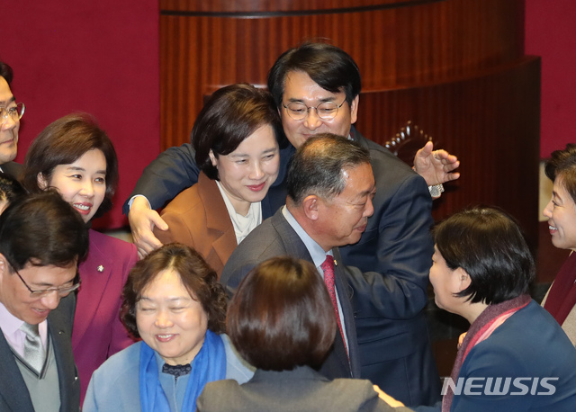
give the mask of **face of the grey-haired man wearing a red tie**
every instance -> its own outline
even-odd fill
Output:
[[[331,200],[317,201],[318,220],[313,237],[326,251],[360,240],[368,218],[374,213],[372,200],[376,189],[372,167],[361,164],[345,169],[343,174],[347,181],[344,191]]]

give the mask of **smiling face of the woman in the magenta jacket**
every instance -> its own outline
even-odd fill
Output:
[[[106,194],[106,158],[94,148],[69,165],[54,168],[49,182],[38,176],[40,188],[54,187],[85,222],[94,217]]]

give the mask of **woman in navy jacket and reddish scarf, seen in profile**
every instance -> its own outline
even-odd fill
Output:
[[[464,210],[434,240],[437,306],[471,323],[442,411],[576,410],[576,350],[528,295],[535,264],[516,222],[492,208]]]

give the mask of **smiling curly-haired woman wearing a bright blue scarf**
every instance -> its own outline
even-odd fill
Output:
[[[226,295],[188,246],[169,244],[139,261],[123,290],[121,319],[142,339],[94,372],[85,411],[193,411],[210,381],[252,372],[220,335]]]

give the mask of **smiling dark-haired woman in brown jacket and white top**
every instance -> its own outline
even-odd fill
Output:
[[[262,223],[261,201],[280,167],[280,117],[272,96],[253,85],[222,87],[194,121],[198,184],[162,211],[163,243],[196,249],[219,274],[244,237]]]

